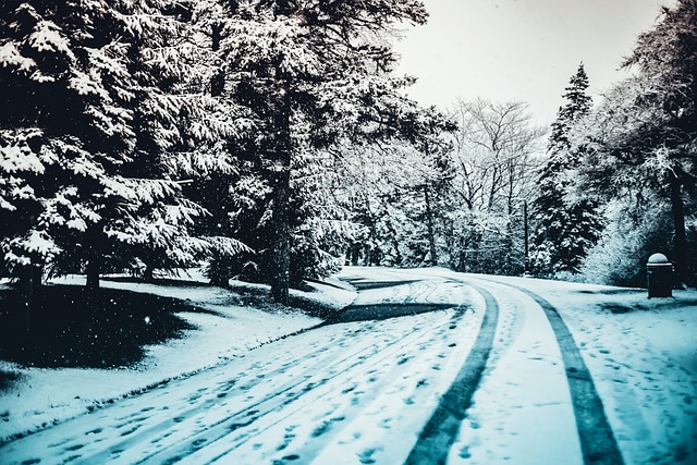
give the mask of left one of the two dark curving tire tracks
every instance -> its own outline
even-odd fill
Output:
[[[479,387],[499,320],[499,303],[488,291],[473,284],[486,304],[486,310],[475,344],[450,389],[441,397],[438,407],[421,430],[405,464],[444,464],[451,445],[457,438],[472,397]]]

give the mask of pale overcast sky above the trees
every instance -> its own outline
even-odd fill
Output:
[[[530,103],[551,123],[568,79],[584,62],[596,98],[626,75],[617,71],[639,33],[674,0],[424,0],[426,26],[396,45],[398,71],[419,78],[409,95],[450,106],[456,96]]]

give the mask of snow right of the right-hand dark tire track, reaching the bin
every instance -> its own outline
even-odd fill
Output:
[[[697,462],[697,292],[648,299],[646,290],[492,279],[529,289],[558,308],[626,463]]]

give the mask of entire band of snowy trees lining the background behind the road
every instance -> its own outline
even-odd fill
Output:
[[[697,1],[662,10],[599,101],[570,70],[551,127],[522,101],[406,97],[394,30],[427,16],[400,0],[4,1],[2,273],[97,289],[205,265],[285,303],[343,265],[644,285],[661,252],[697,284]]]

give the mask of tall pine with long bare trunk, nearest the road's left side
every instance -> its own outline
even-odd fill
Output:
[[[423,113],[389,76],[395,60],[383,40],[395,23],[421,24],[420,2],[396,0],[235,2],[223,40],[229,78],[262,124],[257,155],[272,187],[273,298],[286,302],[291,269],[293,158],[341,138],[421,131]],[[420,120],[420,121],[419,121]]]

